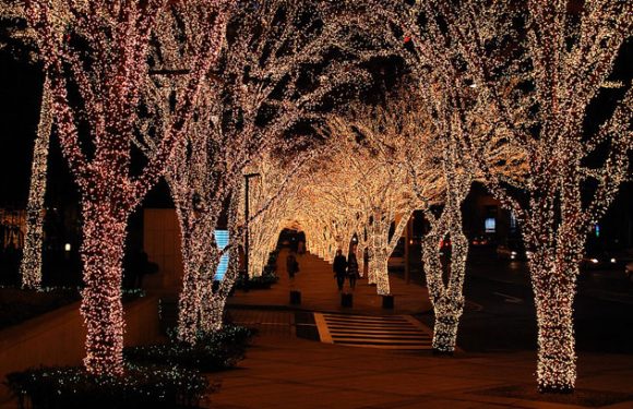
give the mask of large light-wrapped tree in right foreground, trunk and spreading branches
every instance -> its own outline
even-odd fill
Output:
[[[585,237],[628,177],[631,84],[610,80],[633,3],[369,3],[375,24],[386,20],[406,33],[415,52],[403,56],[417,74],[433,67],[443,95],[468,93],[485,107],[480,129],[459,139],[522,225],[537,306],[538,387],[573,390],[573,300]],[[381,41],[403,44],[391,28],[381,33]],[[596,115],[597,100],[607,101],[599,105],[608,115]],[[497,172],[494,139],[529,158],[527,166]]]

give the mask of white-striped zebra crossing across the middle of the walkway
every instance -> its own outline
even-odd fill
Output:
[[[314,313],[314,321],[321,341],[325,344],[380,349],[431,349],[431,330],[410,315]]]

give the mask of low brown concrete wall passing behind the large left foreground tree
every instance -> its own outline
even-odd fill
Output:
[[[76,302],[0,330],[0,381],[8,373],[32,366],[81,364],[86,332],[79,306]],[[157,297],[142,298],[124,308],[126,346],[158,339]],[[9,389],[0,384],[0,401],[8,399]]]

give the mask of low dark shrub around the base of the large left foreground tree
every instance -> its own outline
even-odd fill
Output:
[[[76,366],[28,369],[7,375],[7,385],[21,409],[196,408],[217,388],[195,371],[147,365],[128,365],[122,376]]]

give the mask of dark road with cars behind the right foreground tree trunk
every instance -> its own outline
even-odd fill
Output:
[[[419,274],[413,276],[423,285]],[[464,292],[461,348],[471,352],[536,350],[536,313],[525,263],[474,254]],[[633,353],[633,282],[623,270],[583,270],[574,309],[578,352]],[[432,325],[430,313],[418,318]]]

